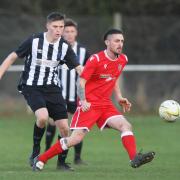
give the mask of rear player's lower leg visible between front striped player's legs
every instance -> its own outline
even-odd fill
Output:
[[[56,125],[54,124],[54,121],[52,119],[49,119],[46,128],[45,150],[48,150],[51,147],[55,134]]]

